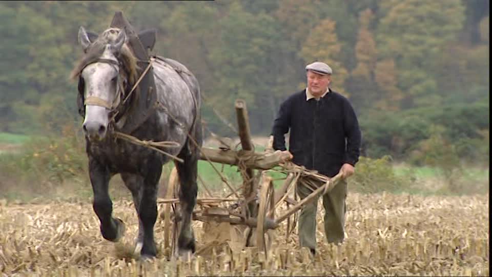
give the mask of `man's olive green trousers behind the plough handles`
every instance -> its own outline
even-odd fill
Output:
[[[297,184],[297,194],[301,199],[308,196],[313,190],[306,187],[308,184],[313,190],[323,185],[322,182],[304,177]],[[328,243],[341,243],[344,239],[344,225],[347,197],[347,182],[341,180],[330,192],[323,196],[324,207],[324,232]],[[318,198],[319,199],[319,198]],[[318,199],[305,205],[299,215],[298,232],[300,247],[316,249],[316,214],[318,212]]]

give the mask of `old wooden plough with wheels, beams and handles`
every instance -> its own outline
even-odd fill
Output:
[[[306,170],[304,167],[288,162],[288,157],[285,153],[273,150],[272,137],[270,137],[270,141],[264,152],[255,152],[251,140],[248,111],[245,102],[236,100],[235,109],[242,149],[236,151],[230,145],[224,145],[224,147],[219,147],[218,149],[200,148],[200,160],[208,161],[212,165],[216,173],[220,175],[222,183],[229,188],[230,193],[225,197],[212,197],[212,193],[207,189],[201,177],[198,176],[202,188],[211,197],[197,198],[197,206],[200,208],[194,210],[193,220],[202,222],[228,222],[230,224],[249,226],[251,230],[256,229],[256,242],[253,243],[256,244],[259,251],[264,251],[266,254],[265,232],[269,229],[276,229],[285,220],[289,221],[288,229],[292,231],[295,226],[290,226],[293,225],[290,222],[295,221],[291,221],[290,217],[299,211],[302,206],[312,201],[317,201],[319,195],[332,190],[341,179],[341,174],[329,178],[316,171]],[[243,179],[242,186],[234,188],[212,162],[237,166]],[[277,169],[274,170],[274,168]],[[254,169],[258,170],[256,175],[254,174]],[[277,189],[274,188],[274,180],[267,175],[269,170],[286,174],[282,186]],[[304,186],[308,186],[312,193],[304,199],[296,201],[292,197],[289,197],[288,193],[292,191],[292,188],[296,186],[302,176],[311,176],[314,179],[323,181],[324,185],[311,187],[306,183],[301,183]],[[173,168],[165,192],[166,197],[157,201],[159,204],[166,204],[164,210],[161,212],[161,217],[164,220],[164,246],[166,248],[171,246],[172,249],[175,248],[175,240],[170,245],[171,228],[173,229],[173,234],[176,234],[177,223],[180,221],[179,212],[175,207],[176,204],[179,204],[179,199],[176,196],[178,184],[176,168]],[[241,194],[238,194],[239,190],[242,190]],[[235,204],[230,208],[218,207],[218,204],[224,202],[233,202]],[[287,209],[275,217],[275,209],[282,203],[287,205]],[[288,230],[287,234],[289,233]],[[172,250],[172,252],[174,251]]]

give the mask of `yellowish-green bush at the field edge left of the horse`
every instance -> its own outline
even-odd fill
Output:
[[[87,183],[87,166],[84,137],[70,123],[49,137],[31,138],[19,152],[1,154],[0,190],[45,196],[67,182]]]

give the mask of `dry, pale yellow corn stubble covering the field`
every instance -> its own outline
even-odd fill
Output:
[[[138,222],[129,201],[114,201],[114,214],[127,224],[127,233],[118,243],[101,237],[91,203],[4,201],[0,202],[0,276],[489,275],[487,195],[350,193],[342,245],[324,243],[318,207],[314,259],[298,248],[297,231],[286,239],[286,226],[270,235],[265,256],[233,238],[232,234],[241,233],[236,226],[216,224],[221,235],[214,238],[212,229],[203,231],[210,226],[194,222],[197,253],[190,260],[168,261],[171,251],[163,248],[165,232],[159,216],[157,258],[140,262],[133,253]]]

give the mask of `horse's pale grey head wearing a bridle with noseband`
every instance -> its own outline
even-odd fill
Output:
[[[84,116],[83,129],[89,139],[102,140],[125,88],[133,83],[136,59],[121,29],[109,28],[95,38],[80,27],[78,41],[85,52],[72,72],[72,77],[79,78],[79,113]]]

